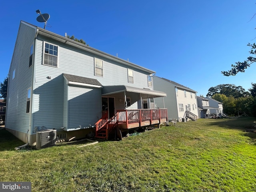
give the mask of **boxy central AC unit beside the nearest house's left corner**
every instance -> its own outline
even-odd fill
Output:
[[[36,132],[36,148],[42,149],[55,145],[57,130],[48,129]]]

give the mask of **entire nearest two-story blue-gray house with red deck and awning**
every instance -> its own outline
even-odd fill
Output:
[[[97,121],[96,136],[105,129],[102,138],[118,123],[126,129],[159,126],[167,111],[152,109],[152,102],[166,93],[153,90],[152,74],[21,21],[9,70],[6,130],[35,145],[37,131],[55,129],[64,140],[83,138],[92,134]],[[138,110],[146,108],[150,109],[146,115]]]

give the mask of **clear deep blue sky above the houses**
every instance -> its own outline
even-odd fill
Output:
[[[196,90],[219,84],[246,90],[256,83],[256,64],[226,77],[222,70],[244,61],[256,42],[252,0],[23,0],[0,7],[0,82],[8,75],[20,20],[39,27],[36,10],[50,14],[46,30],[74,35],[89,46],[156,71]],[[252,20],[251,20],[252,18]]]

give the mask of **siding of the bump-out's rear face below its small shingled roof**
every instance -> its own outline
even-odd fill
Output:
[[[94,125],[101,116],[101,89],[68,87],[68,129]]]

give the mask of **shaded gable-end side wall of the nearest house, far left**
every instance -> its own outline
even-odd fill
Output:
[[[35,28],[20,23],[9,71],[5,126],[24,133],[28,131],[30,126],[30,113],[26,113],[26,103],[27,90],[32,88],[33,66],[29,68],[29,58],[30,47],[34,44],[35,34]],[[12,79],[14,69],[15,78]]]

